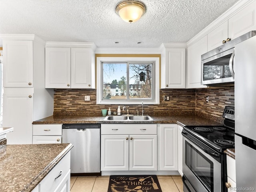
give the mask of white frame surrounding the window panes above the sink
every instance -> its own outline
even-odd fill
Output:
[[[153,100],[140,99],[140,100],[102,100],[103,92],[103,74],[102,62],[153,62],[154,75],[153,75]],[[96,91],[96,104],[159,104],[159,84],[160,84],[160,58],[159,57],[96,57],[97,67],[97,91]]]

